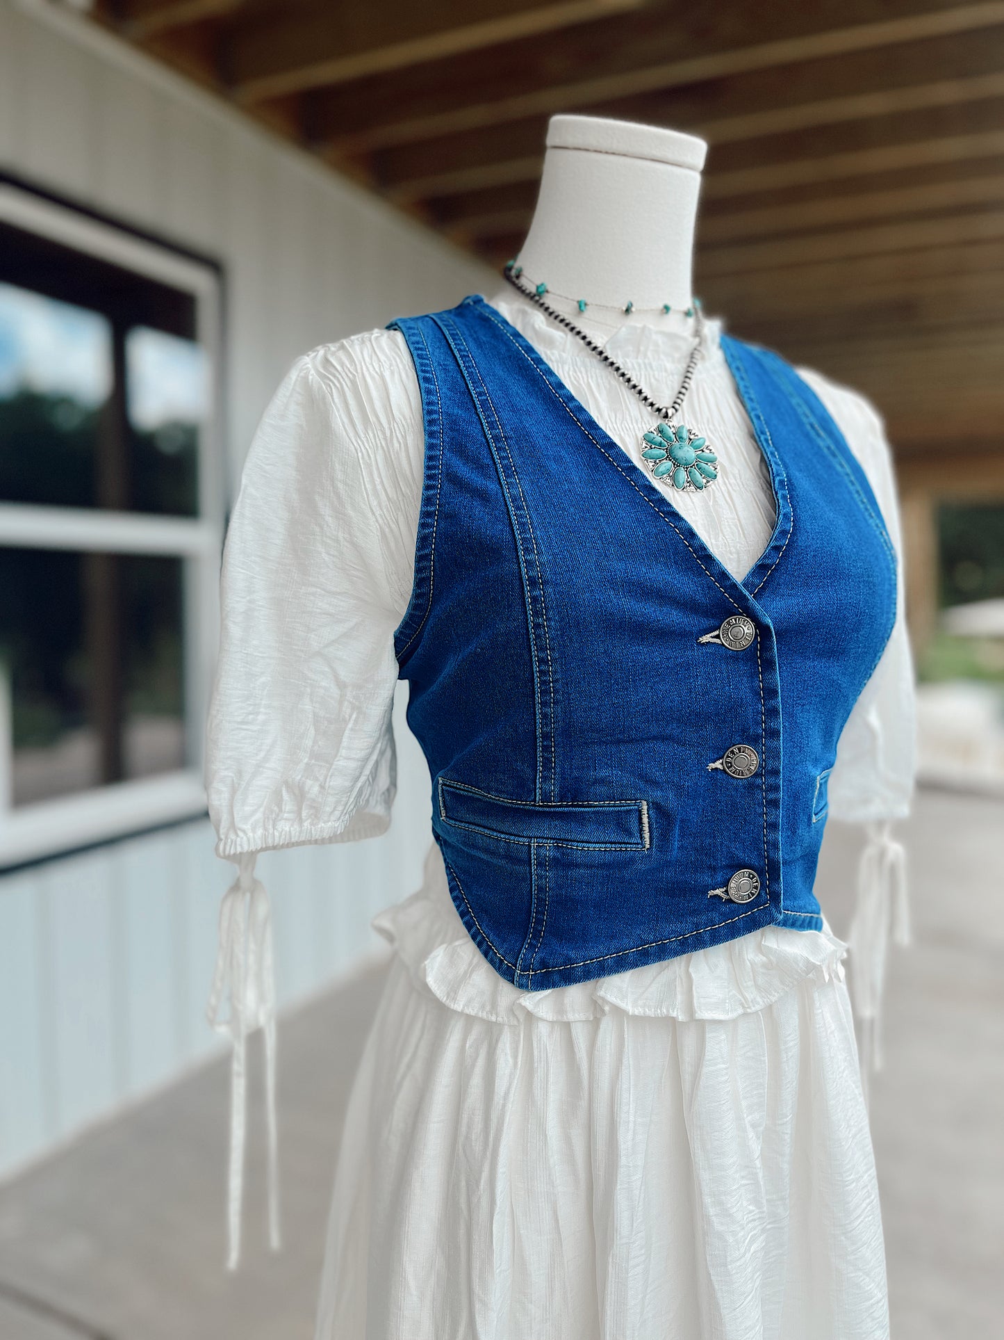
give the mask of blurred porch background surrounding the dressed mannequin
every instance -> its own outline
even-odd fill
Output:
[[[379,840],[268,854],[288,1249],[224,1272],[218,560],[305,350],[490,295],[548,117],[711,143],[696,287],[893,445],[921,776],[871,1112],[893,1333],[1004,1327],[1004,3],[0,0],[0,1340],[309,1337]],[[625,209],[629,209],[625,202]],[[861,835],[827,832],[846,934]]]

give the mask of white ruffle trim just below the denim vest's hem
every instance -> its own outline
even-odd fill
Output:
[[[624,973],[527,992],[491,967],[467,934],[439,878],[432,846],[423,887],[373,917],[371,925],[404,962],[419,990],[450,1009],[494,1024],[527,1014],[554,1022],[597,1018],[612,1008],[648,1018],[736,1018],[763,1009],[799,982],[843,981],[847,950],[829,929],[766,926],[724,945]]]

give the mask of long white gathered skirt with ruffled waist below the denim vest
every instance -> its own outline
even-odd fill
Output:
[[[767,927],[519,992],[438,848],[349,1099],[317,1340],[885,1340],[850,1002]]]

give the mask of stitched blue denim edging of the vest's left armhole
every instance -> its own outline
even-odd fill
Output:
[[[424,430],[422,501],[415,536],[411,598],[404,616],[394,630],[394,650],[400,669],[403,669],[418,645],[419,634],[432,608],[439,489],[443,474],[443,401],[426,339],[426,324],[427,318],[410,316],[399,318],[387,326],[387,330],[400,331],[408,346],[422,394],[422,423]]]

